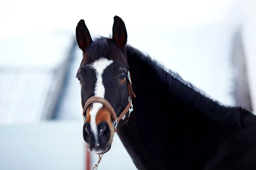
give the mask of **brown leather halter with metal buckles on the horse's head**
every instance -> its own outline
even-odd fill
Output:
[[[112,106],[111,106],[111,104],[106,100],[106,99],[104,99],[104,98],[102,98],[102,97],[99,97],[99,96],[93,96],[93,97],[90,97],[87,101],[86,101],[86,103],[85,103],[85,105],[84,105],[84,110],[83,110],[83,116],[84,116],[84,122],[85,122],[85,116],[86,116],[86,113],[85,113],[85,111],[86,111],[86,108],[90,105],[90,104],[92,104],[92,103],[94,103],[94,102],[98,102],[98,103],[101,103],[102,105],[104,105],[107,109],[108,109],[108,111],[110,112],[110,114],[111,114],[111,116],[112,116],[112,118],[113,118],[113,120],[114,120],[114,122],[113,122],[113,126],[114,126],[114,131],[116,132],[116,128],[117,128],[117,125],[119,124],[119,121],[121,120],[121,119],[125,119],[125,114],[129,111],[129,115],[128,115],[128,120],[129,120],[129,117],[130,117],[130,114],[131,114],[131,112],[133,111],[133,105],[132,105],[132,103],[131,103],[131,97],[132,96],[134,96],[134,97],[136,97],[135,96],[135,94],[134,94],[134,92],[133,92],[133,90],[132,90],[132,88],[131,88],[131,75],[130,75],[130,72],[128,71],[128,74],[127,74],[127,88],[128,88],[128,105],[126,106],[126,108],[122,111],[122,113],[119,115],[119,117],[117,117],[116,116],[116,113],[115,113],[115,111],[114,111],[114,109],[112,108]],[[127,120],[127,122],[128,122],[128,120]]]

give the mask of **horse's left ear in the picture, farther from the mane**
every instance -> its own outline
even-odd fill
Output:
[[[90,43],[93,42],[92,37],[84,20],[80,20],[76,26],[76,43],[82,51],[85,51]]]

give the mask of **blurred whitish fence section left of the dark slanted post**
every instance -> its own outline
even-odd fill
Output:
[[[57,80],[52,68],[0,67],[0,124],[45,119]]]

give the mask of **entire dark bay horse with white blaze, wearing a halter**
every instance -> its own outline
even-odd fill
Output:
[[[108,152],[116,132],[139,170],[256,170],[256,116],[211,99],[128,45],[120,17],[112,37],[95,40],[80,20],[76,42],[92,153]]]

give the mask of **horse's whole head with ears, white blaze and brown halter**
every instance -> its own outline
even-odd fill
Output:
[[[135,96],[125,47],[127,31],[118,16],[112,31],[112,38],[93,40],[84,20],[76,26],[76,42],[83,52],[76,75],[81,85],[83,137],[96,154],[110,150],[115,131],[128,121]]]

